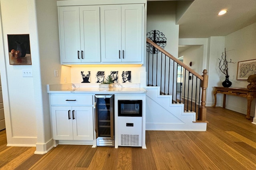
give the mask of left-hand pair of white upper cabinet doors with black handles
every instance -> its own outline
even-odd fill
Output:
[[[99,6],[59,7],[62,64],[100,62]]]

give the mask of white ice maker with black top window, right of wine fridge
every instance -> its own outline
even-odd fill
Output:
[[[142,147],[142,100],[118,100],[118,146]]]

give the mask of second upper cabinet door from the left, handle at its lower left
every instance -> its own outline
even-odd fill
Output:
[[[100,7],[81,6],[81,62],[100,62]]]

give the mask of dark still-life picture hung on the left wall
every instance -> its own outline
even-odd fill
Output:
[[[7,35],[10,65],[31,65],[29,34]]]

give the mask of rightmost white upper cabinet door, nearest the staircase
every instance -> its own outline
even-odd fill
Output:
[[[122,6],[122,62],[142,61],[143,5]]]

